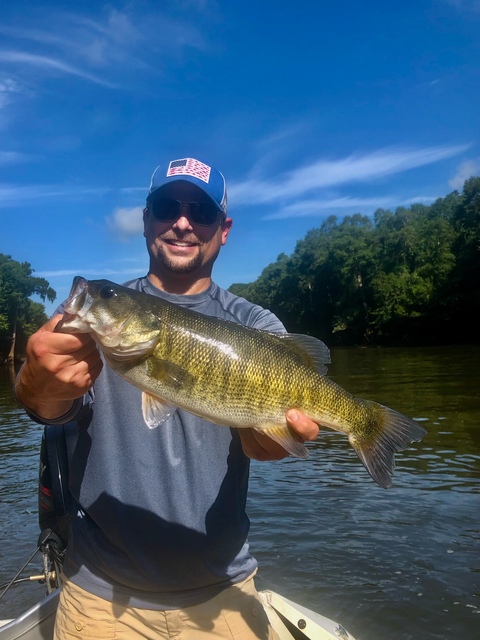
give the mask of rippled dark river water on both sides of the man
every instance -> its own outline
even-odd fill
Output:
[[[357,640],[480,640],[480,346],[336,349],[329,375],[421,421],[378,487],[342,434],[307,460],[252,463],[250,545],[258,586],[341,622]],[[0,368],[0,584],[35,549],[42,427]],[[40,568],[40,561],[33,563]],[[22,584],[0,618],[43,595]]]

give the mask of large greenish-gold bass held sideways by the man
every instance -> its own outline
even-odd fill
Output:
[[[296,408],[348,436],[372,478],[391,485],[394,455],[425,430],[325,376],[330,352],[311,336],[278,334],[205,316],[108,280],[73,281],[55,329],[90,333],[107,364],[142,390],[153,428],[177,407],[228,427],[267,434],[294,456],[305,445],[289,429]]]

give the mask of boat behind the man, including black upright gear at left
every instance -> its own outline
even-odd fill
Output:
[[[69,526],[68,449],[76,428],[73,425],[45,427],[40,450],[39,525],[40,537],[34,553],[4,585],[5,593],[24,579],[20,575],[40,552],[43,573],[30,581],[45,585],[46,595],[27,611],[12,620],[0,620],[0,640],[53,640],[60,585],[58,576],[67,543]],[[339,623],[285,598],[275,591],[263,590],[260,598],[270,625],[279,640],[355,640]]]

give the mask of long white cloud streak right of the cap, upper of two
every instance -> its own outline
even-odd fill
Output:
[[[277,178],[251,177],[230,186],[229,198],[236,205],[274,203],[305,196],[326,187],[352,182],[372,182],[439,162],[463,153],[468,145],[426,147],[423,149],[387,148],[372,153],[354,154],[339,160],[313,160],[286,171]]]

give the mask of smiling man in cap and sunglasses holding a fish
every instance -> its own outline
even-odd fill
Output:
[[[212,268],[232,228],[223,175],[186,158],[158,167],[144,209],[148,275],[127,286],[207,315],[284,331],[269,311],[220,289]],[[78,512],[55,637],[275,638],[253,584],[245,513],[249,458],[287,452],[248,429],[184,411],[145,427],[140,390],[88,335],[34,334],[17,396],[40,422],[78,421],[70,489]],[[290,411],[304,440],[318,426]],[[246,455],[245,455],[246,454]],[[247,457],[248,456],[248,457]]]

